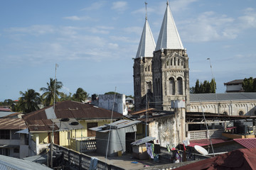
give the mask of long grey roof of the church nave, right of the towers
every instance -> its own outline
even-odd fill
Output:
[[[256,100],[256,93],[190,94],[191,102]]]

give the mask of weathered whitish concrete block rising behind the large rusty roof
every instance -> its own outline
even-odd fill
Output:
[[[107,110],[112,111],[113,102],[114,102],[114,112],[127,115],[128,111],[125,105],[124,94],[116,94],[115,98],[114,98],[114,94],[99,95],[99,108],[105,108]]]

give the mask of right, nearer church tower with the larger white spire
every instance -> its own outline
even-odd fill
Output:
[[[181,101],[188,106],[188,55],[182,45],[168,1],[151,60],[155,107],[171,111],[174,101]]]

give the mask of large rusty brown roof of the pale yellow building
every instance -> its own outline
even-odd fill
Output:
[[[46,120],[49,118],[76,118],[81,119],[107,119],[111,118],[112,111],[97,108],[88,103],[76,101],[62,101],[55,104],[55,111],[50,111],[53,106],[43,108],[32,113],[23,115],[24,120]],[[48,110],[47,110],[48,109]],[[46,114],[47,113],[47,114]],[[54,115],[50,115],[54,114]],[[122,114],[113,113],[113,118],[122,118]]]

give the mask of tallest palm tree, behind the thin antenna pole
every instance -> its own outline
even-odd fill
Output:
[[[54,87],[55,87],[55,101],[58,101],[58,96],[60,96],[60,90],[63,86],[63,83],[61,81],[57,81],[56,79],[56,86],[55,86],[55,80],[53,78],[50,78],[50,83],[47,83],[47,88],[46,87],[41,87],[40,91],[45,91],[42,94],[43,98],[43,103],[45,106],[50,106],[53,105],[54,101]]]

